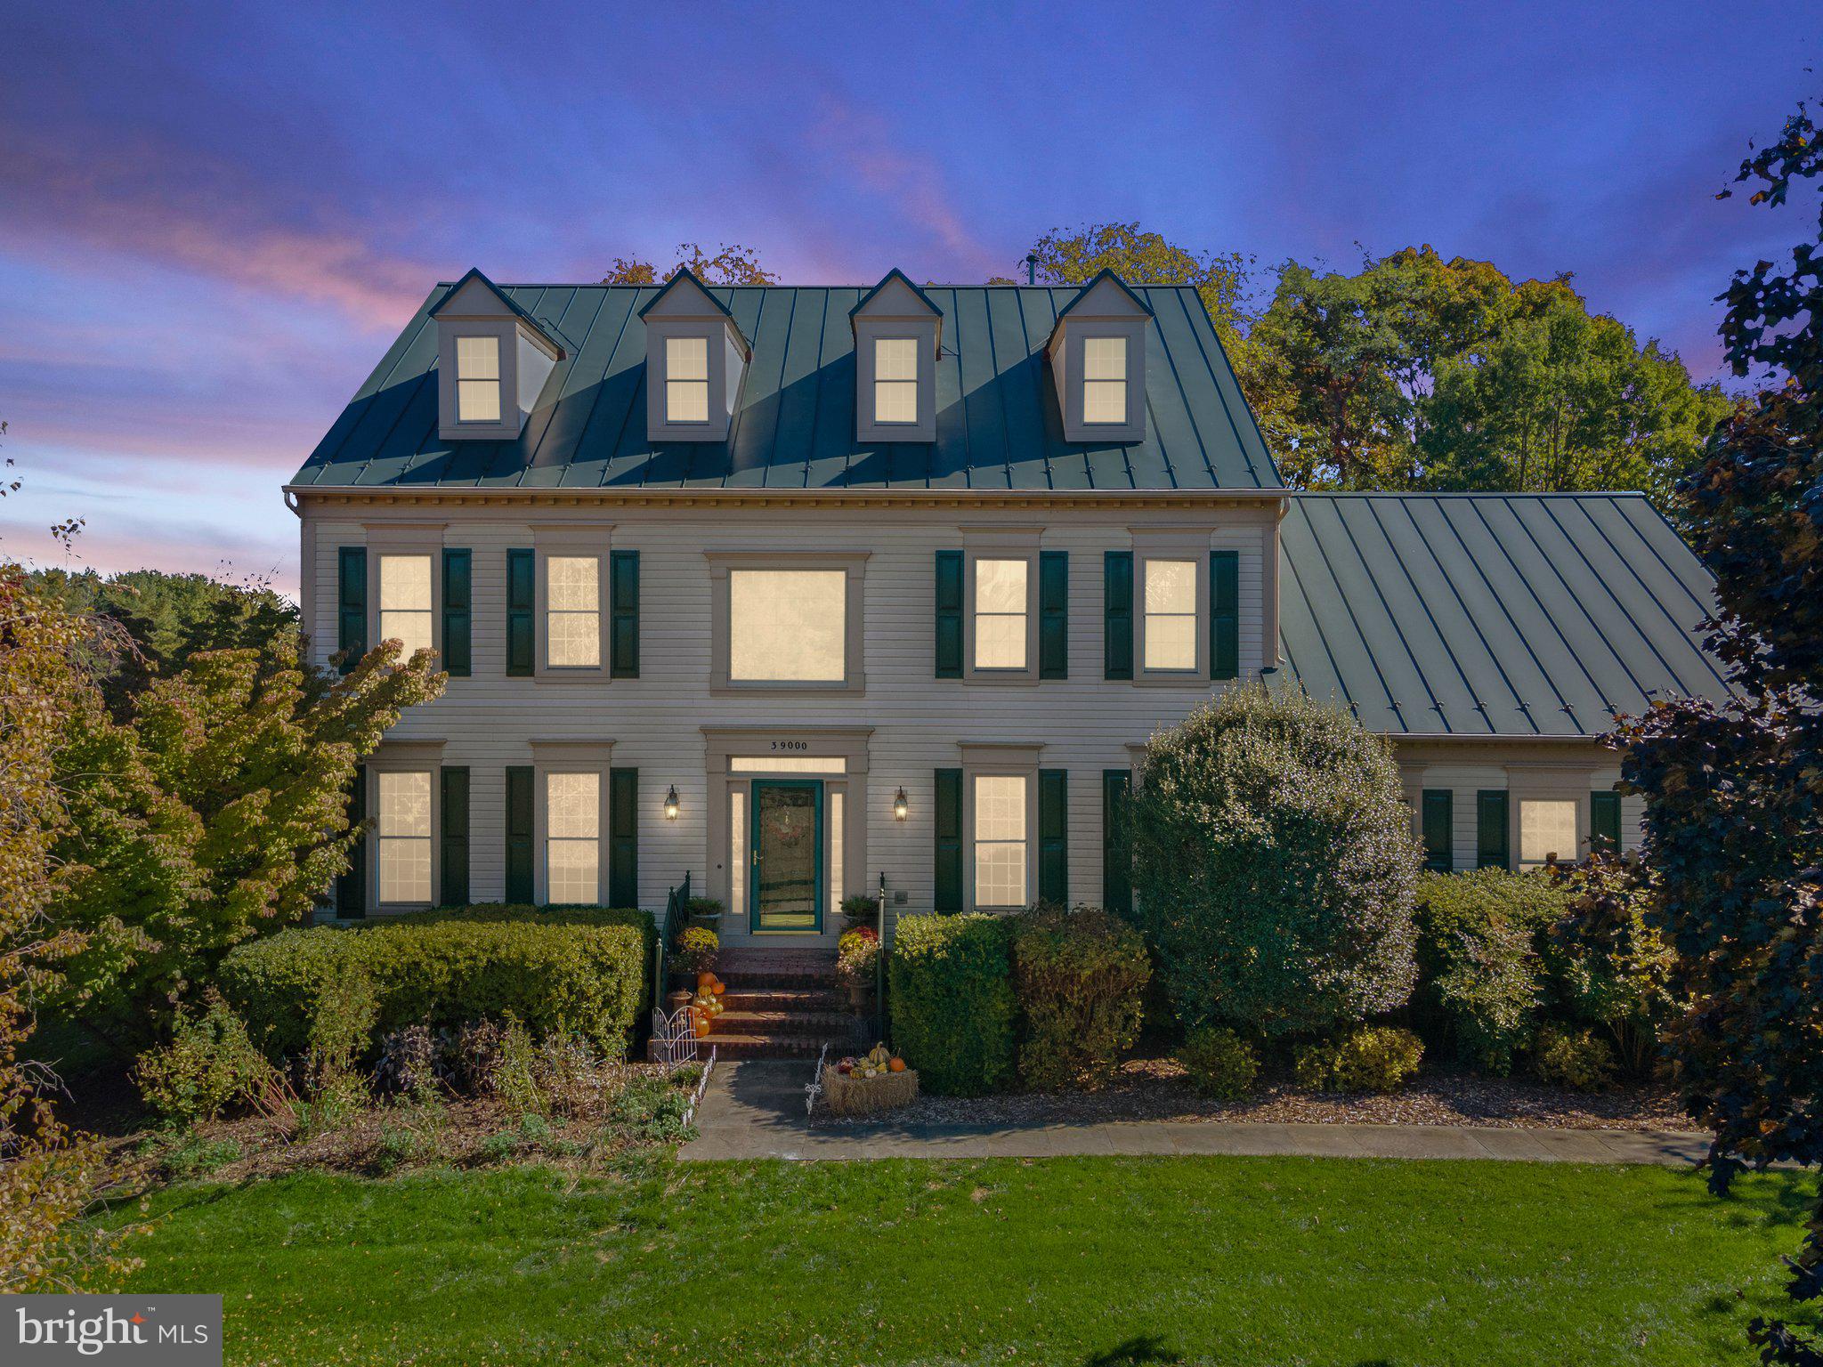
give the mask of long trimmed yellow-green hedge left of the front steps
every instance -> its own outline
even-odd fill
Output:
[[[512,1012],[532,1033],[576,1032],[620,1052],[647,1006],[653,940],[647,911],[494,902],[279,931],[232,950],[219,979],[272,1054],[304,1048],[319,995],[343,973],[372,979],[376,1037]]]

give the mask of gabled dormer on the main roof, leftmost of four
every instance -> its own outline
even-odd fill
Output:
[[[438,434],[514,441],[563,346],[478,270],[456,281],[430,321],[438,326]]]

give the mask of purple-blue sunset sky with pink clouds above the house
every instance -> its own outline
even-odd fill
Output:
[[[1788,4],[0,0],[4,549],[295,585],[279,485],[438,279],[680,241],[979,281],[1052,226],[1575,272],[1714,375],[1790,211],[1715,202],[1803,93]]]

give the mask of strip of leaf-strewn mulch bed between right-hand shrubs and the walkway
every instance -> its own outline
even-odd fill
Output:
[[[819,1106],[811,1125],[1083,1125],[1099,1121],[1218,1121],[1305,1125],[1497,1125],[1531,1130],[1690,1130],[1668,1088],[1564,1092],[1524,1077],[1422,1074],[1393,1095],[1302,1092],[1267,1079],[1247,1101],[1210,1101],[1174,1059],[1130,1059],[1101,1092],[921,1095],[882,1117],[846,1119]]]

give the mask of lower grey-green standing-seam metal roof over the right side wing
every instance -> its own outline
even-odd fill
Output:
[[[1728,696],[1714,581],[1641,494],[1298,494],[1282,547],[1287,673],[1369,731],[1599,735]]]

